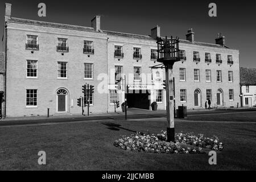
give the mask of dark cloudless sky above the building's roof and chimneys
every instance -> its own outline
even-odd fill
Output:
[[[149,35],[159,25],[162,36],[185,39],[193,28],[195,41],[215,43],[218,32],[226,37],[226,46],[240,50],[241,67],[256,68],[256,2],[255,1],[143,1],[143,0],[0,0],[0,21],[5,2],[12,4],[12,16],[55,23],[90,27],[94,15],[101,15],[101,29]],[[38,16],[38,4],[46,3],[47,16]],[[217,5],[217,17],[208,16],[208,5]],[[3,23],[0,23],[2,37]],[[0,47],[1,48],[1,47]],[[236,61],[236,60],[234,60]]]

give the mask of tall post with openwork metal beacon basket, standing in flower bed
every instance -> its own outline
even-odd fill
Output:
[[[157,38],[158,62],[166,68],[166,111],[167,111],[167,141],[175,142],[174,130],[174,86],[172,67],[179,58],[179,38]]]

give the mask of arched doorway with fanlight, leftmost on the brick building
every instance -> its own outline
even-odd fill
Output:
[[[68,91],[66,89],[58,89],[56,92],[57,113],[68,112]]]

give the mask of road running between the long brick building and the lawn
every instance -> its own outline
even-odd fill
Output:
[[[189,115],[205,115],[205,114],[230,114],[230,113],[246,113],[246,112],[256,112],[256,109],[230,109],[230,110],[188,110]],[[127,112],[127,119],[146,119],[146,118],[162,118],[166,117],[165,111],[149,111],[142,109],[129,109]],[[105,114],[101,116],[72,116],[67,115],[67,117],[60,118],[23,118],[16,120],[2,120],[0,121],[0,126],[15,126],[15,125],[38,125],[44,123],[65,123],[65,122],[79,122],[79,121],[109,121],[109,120],[124,120],[124,113],[116,114]]]

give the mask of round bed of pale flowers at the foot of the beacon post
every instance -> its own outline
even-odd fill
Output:
[[[207,150],[221,151],[223,149],[222,143],[216,136],[206,138],[203,134],[177,133],[175,134],[176,143],[166,140],[166,131],[161,131],[157,135],[137,132],[130,137],[122,136],[121,139],[114,142],[114,146],[123,150],[168,154],[201,154]]]

